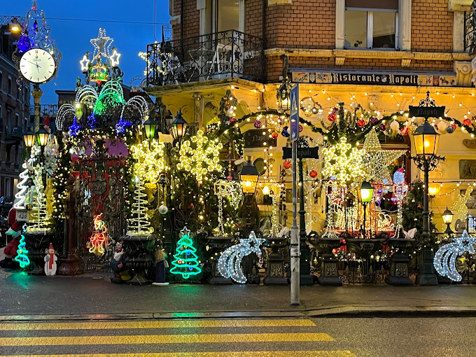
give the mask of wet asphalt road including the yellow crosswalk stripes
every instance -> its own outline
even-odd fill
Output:
[[[0,323],[1,356],[476,356],[476,318]],[[109,354],[111,353],[111,354]]]

